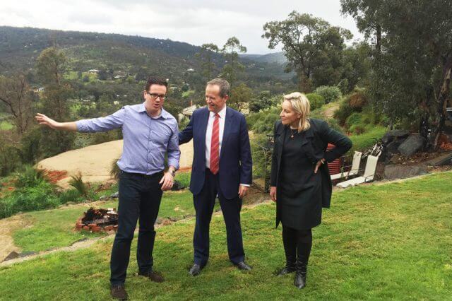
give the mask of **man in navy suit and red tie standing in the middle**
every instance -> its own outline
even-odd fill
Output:
[[[209,81],[207,107],[194,111],[189,125],[179,133],[180,144],[193,138],[194,146],[190,190],[196,226],[191,276],[198,275],[209,258],[209,225],[217,194],[226,224],[230,261],[241,270],[251,270],[244,262],[240,226],[242,198],[251,184],[251,149],[244,115],[226,105],[229,94],[230,84],[224,79]]]

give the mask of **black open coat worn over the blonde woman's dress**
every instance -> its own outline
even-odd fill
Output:
[[[311,163],[315,164],[324,158],[327,163],[339,158],[341,155],[347,153],[350,148],[352,148],[352,141],[347,136],[341,134],[334,129],[331,129],[326,122],[320,119],[309,119],[311,127],[307,129],[304,134],[304,142],[301,145],[304,155],[306,155]],[[285,141],[285,126],[280,122],[275,122],[274,129],[274,146],[271,164],[271,174],[270,174],[270,185],[272,187],[278,187],[278,179],[280,179],[280,166],[281,158],[283,155],[283,145]],[[334,144],[335,148],[326,151],[328,143]],[[321,172],[321,206],[323,208],[329,208],[331,203],[331,192],[333,190],[331,184],[330,172],[328,170],[328,165],[323,164],[319,167]],[[278,205],[279,194],[277,188],[276,191],[276,227],[278,227],[281,220],[281,210]]]

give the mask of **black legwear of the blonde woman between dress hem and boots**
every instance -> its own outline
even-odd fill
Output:
[[[297,261],[307,264],[312,248],[312,230],[296,230],[283,225],[283,244],[287,266]]]

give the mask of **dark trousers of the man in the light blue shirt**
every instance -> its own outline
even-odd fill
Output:
[[[138,268],[143,273],[153,268],[154,223],[162,199],[161,185],[158,183],[162,175],[162,172],[150,176],[121,172],[118,231],[114,237],[110,261],[112,285],[123,284],[126,281],[130,245],[138,219],[140,220],[136,249]]]

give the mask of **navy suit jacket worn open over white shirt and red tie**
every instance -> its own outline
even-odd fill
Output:
[[[179,144],[193,138],[194,156],[191,167],[190,191],[199,194],[206,177],[206,130],[209,110],[203,107],[193,112],[189,125],[179,132]],[[220,189],[226,199],[234,199],[239,184],[251,184],[251,148],[248,129],[242,113],[226,108],[225,130],[220,150]]]

